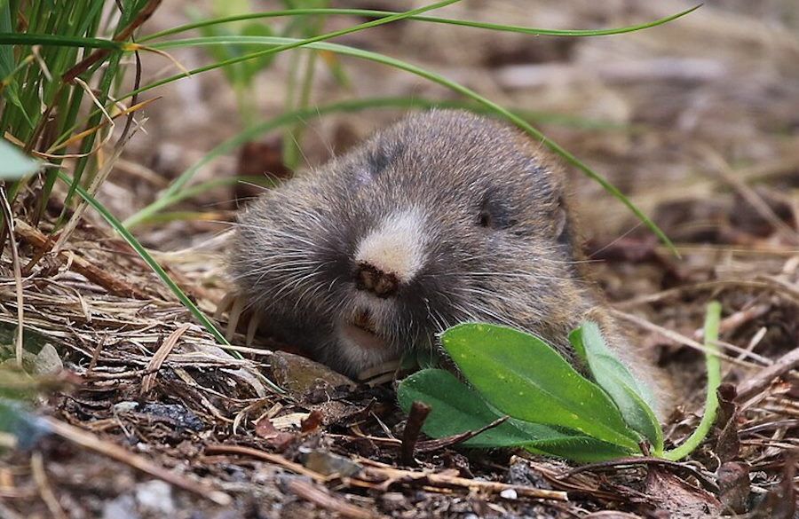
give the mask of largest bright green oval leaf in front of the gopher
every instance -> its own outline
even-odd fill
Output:
[[[637,450],[637,434],[605,391],[538,337],[507,326],[466,323],[449,328],[441,343],[475,389],[502,413]]]

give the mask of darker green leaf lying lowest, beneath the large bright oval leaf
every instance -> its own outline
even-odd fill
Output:
[[[399,383],[399,405],[407,413],[415,401],[430,405],[424,434],[445,437],[486,427],[502,418],[474,390],[441,369],[424,369]],[[632,453],[577,431],[520,421],[513,418],[463,442],[473,448],[525,447],[569,460],[592,462],[610,460]]]

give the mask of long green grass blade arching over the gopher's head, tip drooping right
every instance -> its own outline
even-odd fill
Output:
[[[466,98],[471,98],[472,100],[476,101],[482,106],[485,106],[488,110],[494,112],[495,114],[502,115],[504,118],[508,119],[510,122],[513,122],[516,126],[520,129],[525,130],[527,134],[533,137],[536,141],[541,142],[544,145],[547,145],[550,150],[554,153],[557,153],[560,157],[562,157],[566,162],[573,165],[575,168],[580,169],[581,172],[586,175],[587,177],[591,178],[597,184],[601,185],[605,188],[605,191],[611,193],[613,197],[617,200],[621,201],[629,210],[637,216],[637,218],[643,222],[652,232],[654,232],[658,238],[676,255],[679,256],[674,244],[671,240],[668,239],[666,233],[661,231],[661,228],[658,227],[648,216],[644,214],[644,212],[637,208],[637,206],[629,200],[626,196],[624,196],[619,189],[611,184],[605,177],[599,175],[596,171],[589,168],[587,164],[582,162],[578,159],[574,154],[569,153],[563,148],[561,145],[558,145],[552,139],[546,137],[541,130],[537,130],[524,119],[519,117],[517,114],[513,114],[510,110],[503,108],[502,106],[497,105],[494,101],[484,98],[483,96],[479,95],[474,90],[471,90],[467,87],[464,87],[460,83],[455,83],[444,77],[443,75],[439,75],[438,73],[432,72],[430,70],[424,69],[422,67],[417,67],[406,61],[402,61],[400,59],[391,58],[389,56],[384,56],[383,54],[378,54],[376,52],[371,51],[363,51],[360,49],[354,49],[352,47],[347,47],[345,45],[340,45],[337,43],[324,43],[324,42],[312,42],[312,43],[305,43],[306,40],[297,40],[295,38],[281,38],[281,37],[249,37],[249,36],[215,36],[215,37],[208,37],[208,38],[186,38],[183,40],[174,40],[170,42],[163,42],[154,44],[153,47],[157,49],[170,49],[176,47],[186,47],[186,46],[197,46],[197,45],[220,45],[220,44],[227,44],[227,43],[241,43],[241,42],[248,42],[248,43],[262,43],[264,45],[276,45],[273,50],[275,49],[287,49],[290,45],[305,45],[311,49],[319,49],[321,51],[332,51],[337,52],[340,54],[344,54],[347,56],[352,56],[354,58],[359,59],[367,59],[369,61],[375,61],[376,63],[382,63],[384,65],[388,65],[390,67],[399,68],[400,70],[405,70],[414,75],[418,75],[425,79],[430,80],[433,83],[438,83],[442,86],[447,87],[449,90],[454,90],[459,94],[463,95]],[[289,43],[293,42],[293,43]],[[294,48],[294,47],[291,47]],[[261,55],[260,52],[256,52],[253,54],[249,54],[249,57],[254,58]],[[243,57],[246,58],[246,57]],[[196,68],[191,71],[192,74],[204,72],[206,70],[210,70],[216,67],[224,67],[225,62],[219,62],[214,65],[210,65],[207,67],[200,67]],[[172,78],[167,78],[162,80],[161,82],[152,83],[139,89],[138,91],[150,90],[156,86],[159,86],[164,83],[170,83],[170,81],[175,81],[178,78],[184,77],[183,75],[176,75],[172,76]],[[129,93],[126,97],[131,96],[132,93]]]

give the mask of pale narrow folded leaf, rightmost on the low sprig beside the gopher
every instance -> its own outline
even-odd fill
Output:
[[[641,433],[653,446],[653,452],[663,452],[663,431],[653,413],[654,398],[645,384],[637,381],[627,366],[607,347],[597,323],[587,321],[569,335],[574,349],[589,366],[594,380],[613,402],[630,428]]]

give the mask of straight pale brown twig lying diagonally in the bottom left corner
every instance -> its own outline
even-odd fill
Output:
[[[54,418],[48,417],[44,418],[44,420],[47,421],[52,432],[74,444],[81,445],[83,448],[98,452],[112,460],[120,461],[145,474],[157,477],[168,484],[185,491],[190,491],[205,499],[210,499],[218,505],[228,506],[233,502],[233,499],[223,491],[214,490],[208,484],[194,482],[185,476],[181,476],[177,472],[155,465],[152,461],[146,460],[146,458],[132,452],[128,452],[117,444],[102,440],[99,436],[95,436],[88,431],[78,429],[75,426]]]

